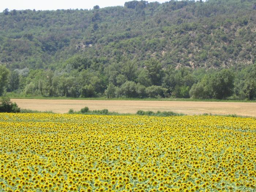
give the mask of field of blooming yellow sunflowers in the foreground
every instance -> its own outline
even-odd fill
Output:
[[[256,191],[256,119],[0,113],[0,191]]]

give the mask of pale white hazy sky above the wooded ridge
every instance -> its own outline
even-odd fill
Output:
[[[131,0],[0,0],[0,11],[9,10],[57,10],[57,9],[92,9],[94,5],[100,8],[123,5]],[[148,2],[158,1],[159,3],[168,0],[147,0]]]

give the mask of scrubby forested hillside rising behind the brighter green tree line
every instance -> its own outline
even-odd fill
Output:
[[[56,69],[74,55],[110,64],[221,68],[256,60],[256,1],[130,1],[93,10],[4,10],[0,63]]]

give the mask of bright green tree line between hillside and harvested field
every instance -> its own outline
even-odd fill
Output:
[[[191,69],[145,62],[73,56],[54,70],[0,66],[0,95],[45,97],[256,99],[256,64],[246,68]]]

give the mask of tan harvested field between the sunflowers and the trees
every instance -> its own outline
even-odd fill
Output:
[[[195,101],[105,101],[105,100],[50,100],[11,99],[20,108],[38,111],[67,113],[69,109],[79,111],[87,106],[90,110],[108,109],[110,112],[136,113],[138,110],[154,112],[173,111],[184,114],[237,114],[256,117],[256,103],[239,102],[195,102]]]

